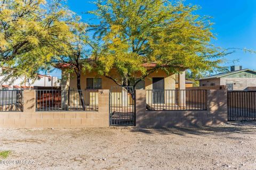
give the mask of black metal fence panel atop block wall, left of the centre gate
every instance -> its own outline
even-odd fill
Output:
[[[98,111],[98,90],[36,90],[36,111]]]

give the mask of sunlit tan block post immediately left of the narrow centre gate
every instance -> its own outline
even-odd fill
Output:
[[[99,90],[99,116],[103,118],[103,126],[109,126],[109,90]]]

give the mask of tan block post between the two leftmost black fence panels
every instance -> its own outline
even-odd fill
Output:
[[[35,90],[23,90],[23,112],[35,112]]]

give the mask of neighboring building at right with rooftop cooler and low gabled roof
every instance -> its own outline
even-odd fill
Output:
[[[256,87],[256,72],[242,69],[242,66],[231,66],[230,72],[211,75],[199,79],[200,86],[226,85],[228,90],[247,90],[247,87]]]

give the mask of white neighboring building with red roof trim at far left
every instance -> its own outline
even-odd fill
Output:
[[[2,73],[3,69],[0,69]],[[51,77],[50,75],[38,74],[36,79],[27,79],[26,77],[13,78],[13,80],[3,81],[4,75],[0,76],[0,88],[34,88],[39,87],[59,87],[60,80],[57,77]]]

